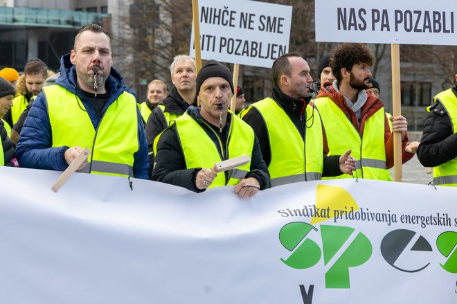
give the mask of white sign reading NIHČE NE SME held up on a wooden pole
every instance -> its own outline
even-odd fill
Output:
[[[199,0],[201,58],[271,68],[289,51],[292,6]],[[194,34],[190,36],[194,57]]]

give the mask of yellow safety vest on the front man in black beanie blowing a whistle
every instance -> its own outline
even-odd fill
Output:
[[[188,114],[173,120],[176,124],[177,134],[183,150],[184,159],[186,159],[186,168],[213,168],[214,164],[223,161],[224,158],[219,154],[217,145],[223,151],[226,150],[226,159],[249,155],[252,157],[254,145],[254,132],[247,123],[244,123],[239,117],[235,116],[231,111],[231,124],[228,131],[228,148],[223,147],[219,140],[215,143],[206,134],[203,129],[192,117]],[[211,130],[211,127],[208,126]],[[213,131],[214,132],[214,131]],[[215,133],[219,139],[219,136]],[[228,181],[226,181],[225,173],[217,173],[217,177],[209,188],[236,185],[241,179],[251,170],[251,161],[249,163],[231,171]]]

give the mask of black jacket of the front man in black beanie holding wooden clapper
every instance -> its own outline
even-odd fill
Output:
[[[187,112],[190,117],[197,121],[200,127],[206,131],[210,138],[215,136],[214,132],[208,129],[207,124],[210,125],[210,123],[204,123],[204,119],[201,118],[199,108],[189,107]],[[222,130],[222,135],[219,136],[222,143],[224,143],[224,147],[227,146],[225,144],[226,141],[230,141],[230,138],[227,139],[227,136],[231,120],[232,116],[229,115],[226,127]],[[214,128],[216,133],[219,134],[219,129],[217,127]],[[217,141],[217,138],[211,139],[215,142]],[[217,146],[219,146],[218,143]],[[222,152],[222,154],[225,153]],[[170,127],[168,127],[168,129],[161,134],[159,142],[157,143],[157,155],[155,161],[154,170],[152,171],[152,180],[181,186],[196,193],[204,191],[200,190],[195,185],[197,173],[201,170],[201,168],[186,168],[186,159],[184,159],[175,124],[170,125]],[[224,173],[226,174],[227,179],[229,172],[226,171]],[[270,186],[268,168],[265,161],[262,159],[262,152],[260,152],[260,145],[256,137],[254,139],[253,151],[251,155],[251,171],[245,178],[248,177],[257,179],[260,184],[260,189],[269,188]]]

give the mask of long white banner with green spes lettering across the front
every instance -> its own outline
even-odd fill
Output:
[[[456,188],[59,175],[0,168],[0,303],[457,303]]]

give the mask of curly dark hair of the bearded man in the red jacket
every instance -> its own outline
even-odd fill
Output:
[[[339,44],[334,48],[333,55],[330,57],[330,67],[338,82],[341,82],[343,77],[341,69],[346,68],[350,71],[354,64],[361,63],[368,64],[368,66],[372,66],[375,63],[375,56],[366,44]]]

